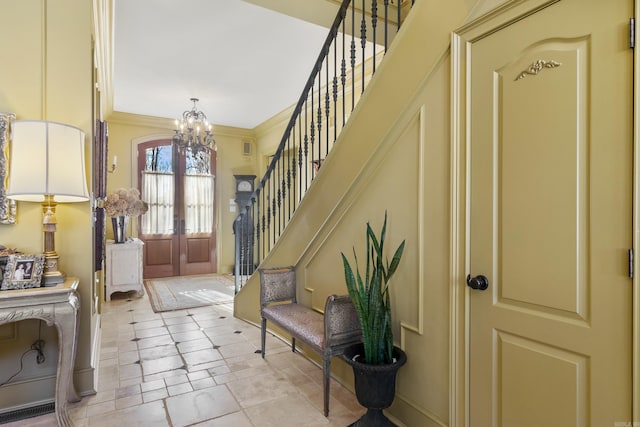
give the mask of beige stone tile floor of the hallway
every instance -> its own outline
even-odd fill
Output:
[[[118,298],[120,296],[120,298]],[[154,313],[144,295],[103,305],[98,393],[70,404],[83,426],[346,426],[364,409],[283,341],[233,317],[230,304]],[[53,414],[5,426],[55,426]]]

